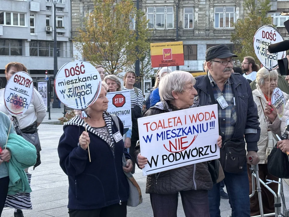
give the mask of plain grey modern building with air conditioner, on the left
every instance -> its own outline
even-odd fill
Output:
[[[73,60],[71,3],[56,5],[58,69]],[[53,76],[54,7],[51,0],[1,0],[0,4],[0,87],[6,85],[5,65],[23,63],[31,77]]]

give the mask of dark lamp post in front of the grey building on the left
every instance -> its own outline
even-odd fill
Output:
[[[57,4],[58,0],[52,0],[53,3],[53,10],[54,10],[54,46],[53,46],[53,59],[54,59],[54,71],[53,71],[53,75],[54,75],[54,79],[56,77],[57,74],[57,36],[56,36],[56,4]],[[50,85],[50,84],[49,84]],[[53,103],[52,103],[52,108],[58,108],[58,102],[56,100],[56,94],[55,91],[53,93]]]

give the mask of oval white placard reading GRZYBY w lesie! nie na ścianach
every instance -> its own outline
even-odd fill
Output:
[[[20,71],[12,75],[8,81],[4,101],[11,115],[23,115],[31,103],[33,96],[33,80],[26,72]]]

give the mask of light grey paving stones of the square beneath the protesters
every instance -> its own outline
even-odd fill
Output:
[[[60,113],[60,111],[59,111]],[[33,204],[32,210],[23,210],[25,217],[49,217],[49,216],[69,216],[67,214],[68,203],[68,181],[59,166],[57,154],[57,145],[60,136],[63,133],[61,125],[41,124],[39,126],[39,137],[41,140],[42,164],[34,171],[32,168],[29,172],[32,173],[31,179],[31,200]],[[141,187],[143,195],[143,203],[137,207],[128,207],[128,217],[151,217],[153,212],[149,194],[145,193],[146,178],[142,175],[140,169],[136,169],[134,175],[138,184]],[[289,201],[289,187],[284,182],[284,195],[286,201]],[[288,207],[288,205],[287,205]],[[221,199],[221,216],[227,217],[231,211],[228,200]],[[14,209],[3,210],[2,217],[12,217]],[[179,199],[178,216],[184,217],[182,202]]]

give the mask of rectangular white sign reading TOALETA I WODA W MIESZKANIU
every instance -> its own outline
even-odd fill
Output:
[[[207,105],[138,119],[143,175],[218,159],[218,107]]]

